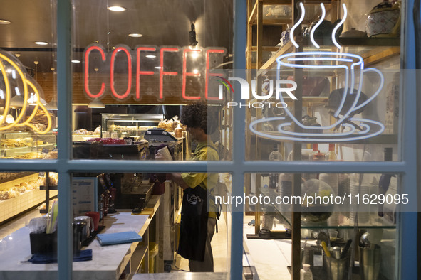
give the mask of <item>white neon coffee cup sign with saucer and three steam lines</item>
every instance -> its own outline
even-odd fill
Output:
[[[296,25],[291,28],[291,34],[293,34],[293,30],[298,27],[298,25],[303,21],[305,10],[303,4],[300,3],[301,7],[301,18],[296,23]],[[311,42],[316,48],[319,48],[319,45],[314,41],[314,30],[320,25],[321,21],[323,21],[323,17],[325,15],[325,9],[323,4],[322,7],[322,16],[321,20],[316,23],[315,28],[311,31]],[[344,18],[338,25],[333,28],[332,32],[332,41],[338,47],[341,48],[341,45],[338,45],[335,38],[335,33],[338,30],[339,26],[343,24],[346,18],[346,7],[343,4],[344,9]],[[291,43],[298,48],[298,44],[296,41],[293,40],[293,36],[291,36]],[[306,126],[301,124],[301,122],[293,116],[293,114],[289,111],[286,107],[284,108],[286,114],[291,118],[292,122],[282,122],[278,126],[275,127],[275,130],[279,132],[280,135],[273,135],[273,134],[265,134],[262,131],[256,131],[254,126],[259,123],[263,122],[278,122],[285,121],[285,117],[271,117],[266,119],[257,119],[254,122],[251,122],[249,128],[255,134],[260,136],[264,136],[266,138],[277,139],[277,140],[294,140],[294,141],[323,141],[323,142],[337,142],[337,141],[353,141],[353,140],[360,140],[360,139],[367,139],[373,136],[377,136],[384,131],[384,126],[380,122],[371,119],[358,119],[352,117],[355,114],[355,111],[365,107],[368,103],[370,103],[382,90],[384,84],[384,77],[380,70],[375,68],[364,68],[364,61],[360,55],[355,55],[351,53],[336,53],[336,52],[303,52],[303,53],[287,53],[284,55],[279,56],[276,58],[277,62],[277,70],[276,70],[276,77],[281,77],[282,70],[285,68],[291,70],[291,68],[302,68],[302,69],[311,69],[311,70],[343,70],[344,77],[345,77],[345,87],[342,93],[341,102],[333,113],[333,117],[336,118],[336,122],[330,124],[328,126]],[[345,63],[347,63],[345,65]],[[363,86],[364,80],[364,73],[365,72],[376,72],[380,76],[380,85],[378,89],[375,90],[373,95],[370,96],[365,102],[361,102],[358,104],[358,100],[361,96],[361,89]],[[358,81],[358,82],[357,82]],[[344,109],[345,99],[348,95],[355,95],[353,97],[353,102],[350,104],[348,110]],[[279,100],[284,102],[284,97],[282,95],[279,96]],[[341,114],[341,117],[339,116]],[[350,122],[345,121],[355,121],[360,122],[360,127],[362,128],[361,131],[357,131],[355,126]],[[287,126],[291,126],[291,124],[296,124],[297,126],[303,129],[303,132],[296,132],[296,131],[289,131],[286,129]],[[341,133],[331,133],[330,129],[336,127],[338,125],[344,126],[344,131]],[[311,129],[311,131],[318,131],[320,133],[311,133],[307,132],[306,129]],[[323,133],[323,131],[329,130],[327,133]]]

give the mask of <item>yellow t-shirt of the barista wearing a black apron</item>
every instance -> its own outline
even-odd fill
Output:
[[[192,161],[219,161],[219,155],[212,141],[200,142],[197,144],[191,159]],[[204,190],[208,190],[208,194],[214,194],[214,187],[218,180],[217,173],[182,173],[181,177],[190,188],[196,188],[199,185]],[[217,217],[217,207],[214,200],[208,201],[209,217]]]

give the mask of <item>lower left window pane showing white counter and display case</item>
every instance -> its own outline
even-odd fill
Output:
[[[57,266],[44,271],[45,266],[31,259],[57,249],[54,219],[48,222],[45,216],[56,203],[57,184],[57,173],[0,172],[0,270],[5,278],[26,273],[57,278]]]

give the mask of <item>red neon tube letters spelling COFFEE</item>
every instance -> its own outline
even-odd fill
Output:
[[[141,60],[145,59],[142,55],[147,52],[148,54],[153,54],[157,57],[157,61],[159,61],[159,71],[154,71],[154,68],[151,66],[145,67],[142,66]],[[100,54],[100,67],[107,69],[109,67],[109,81],[103,80],[100,84],[100,90],[98,92],[93,92],[90,90],[90,82],[92,82],[92,78],[90,78],[90,62],[92,62],[93,55]],[[200,60],[202,60],[202,67],[199,67],[194,70],[194,72],[188,71],[188,65],[191,63],[191,60],[188,59],[188,55],[192,55],[193,53],[197,54],[203,54]],[[115,97],[116,99],[123,100],[130,96],[130,94],[133,94],[135,99],[141,99],[141,88],[142,83],[140,82],[140,77],[142,75],[146,76],[157,76],[159,77],[159,82],[157,82],[157,97],[158,99],[163,99],[165,96],[164,94],[164,87],[165,87],[165,80],[169,76],[177,77],[180,76],[180,79],[177,79],[177,81],[180,82],[181,85],[181,92],[180,97],[184,100],[199,100],[202,99],[202,96],[204,99],[214,100],[218,99],[217,97],[210,97],[209,96],[209,77],[221,75],[221,74],[215,74],[212,72],[209,72],[210,68],[210,61],[211,60],[221,60],[223,56],[225,55],[226,50],[224,48],[177,48],[177,47],[162,47],[157,48],[154,46],[138,46],[135,48],[135,50],[131,50],[128,46],[125,45],[119,45],[118,47],[113,50],[112,53],[107,53],[102,46],[95,44],[90,45],[88,48],[85,49],[85,53],[83,55],[84,58],[84,87],[86,95],[90,98],[100,98],[102,97],[107,90],[110,91],[110,94]],[[175,71],[174,65],[170,65],[168,62],[166,62],[166,58],[172,55],[174,58],[174,55],[176,55],[177,60],[180,60],[180,70]],[[135,56],[135,58],[132,58],[132,56]],[[135,66],[132,66],[132,64],[135,63]],[[167,65],[165,64],[167,63]],[[97,63],[98,64],[98,63]],[[125,78],[127,78],[127,81],[125,81],[125,85],[127,87],[125,90],[121,90],[118,92],[116,89],[116,77],[115,77],[115,69],[119,68],[120,71],[123,68]],[[155,67],[157,68],[157,67]],[[171,70],[168,70],[171,69]],[[98,69],[97,69],[98,70]],[[197,92],[197,95],[189,96],[186,94],[187,92],[187,77],[203,77],[202,73],[204,73],[204,86],[200,88],[199,92]],[[121,79],[121,77],[119,77]],[[132,81],[132,79],[135,79],[135,81]],[[132,88],[133,84],[135,84],[135,88]],[[134,92],[133,92],[134,90]],[[145,88],[143,87],[143,90]],[[195,89],[197,90],[197,89]],[[196,92],[195,92],[196,93]],[[177,92],[175,92],[176,95],[178,95]]]

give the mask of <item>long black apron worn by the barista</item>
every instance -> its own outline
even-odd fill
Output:
[[[207,237],[207,190],[197,185],[184,190],[178,254],[203,262]]]

